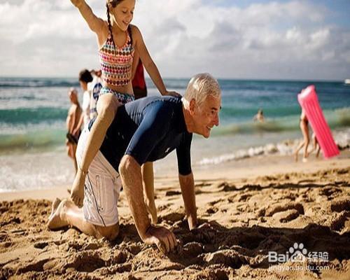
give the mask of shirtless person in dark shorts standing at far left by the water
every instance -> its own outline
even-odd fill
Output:
[[[78,123],[80,116],[82,115],[82,110],[78,102],[78,92],[75,88],[71,87],[68,92],[68,96],[71,101],[71,107],[69,108],[68,115],[66,117],[66,147],[67,154],[69,158],[73,160],[74,168],[77,172],[78,166],[76,162],[76,147],[80,136],[80,127],[78,127]]]

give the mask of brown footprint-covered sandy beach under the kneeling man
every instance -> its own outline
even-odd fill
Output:
[[[51,202],[66,197],[67,186],[1,193],[0,279],[350,279],[349,151],[307,163],[254,158],[194,174],[207,232],[188,230],[177,179],[155,180],[159,222],[179,241],[168,255],[141,242],[123,192],[113,242],[46,228]],[[297,251],[304,258],[282,259]]]

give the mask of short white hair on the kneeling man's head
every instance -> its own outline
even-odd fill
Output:
[[[196,104],[200,105],[209,95],[219,97],[221,95],[220,85],[211,74],[199,73],[190,79],[183,96],[183,104],[187,107],[190,101],[195,99]]]

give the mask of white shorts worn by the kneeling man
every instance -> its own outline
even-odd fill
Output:
[[[90,131],[84,128],[76,148],[76,161],[80,166]],[[116,169],[100,151],[92,160],[85,178],[83,212],[85,221],[107,227],[118,223],[118,199],[122,183]]]

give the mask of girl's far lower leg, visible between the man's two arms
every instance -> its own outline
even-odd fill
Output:
[[[153,162],[146,162],[141,167],[142,186],[144,187],[145,202],[147,211],[151,214],[151,220],[154,225],[157,224],[157,209],[154,201],[154,179],[153,179]]]

